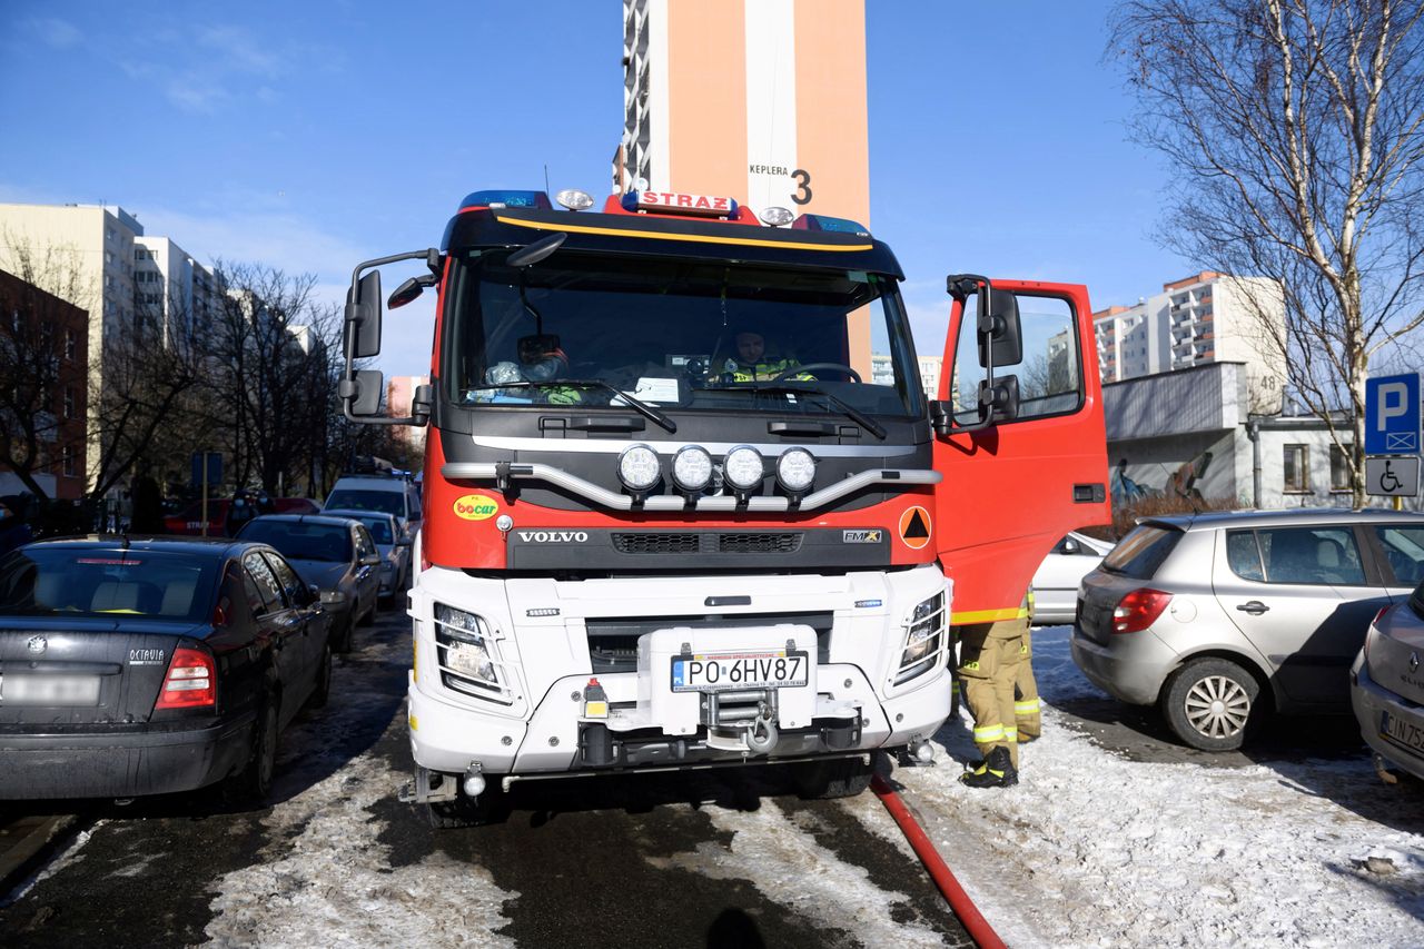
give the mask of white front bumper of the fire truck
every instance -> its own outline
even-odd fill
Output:
[[[901,685],[891,681],[907,617],[917,603],[940,591],[946,591],[947,616],[946,580],[934,567],[833,577],[584,581],[490,580],[431,569],[419,576],[410,594],[419,655],[409,694],[412,751],[417,765],[441,772],[463,772],[471,762],[486,774],[577,771],[584,767],[580,725],[594,722],[619,740],[664,737],[669,764],[681,761],[686,748],[706,755],[705,697],[671,691],[666,650],[644,661],[638,671],[598,673],[609,715],[582,715],[582,693],[594,674],[588,626],[619,620],[678,630],[644,638],[645,648],[652,648],[654,641],[659,648],[674,641],[676,650],[685,640],[693,651],[776,647],[787,645],[787,640],[806,648],[815,665],[807,685],[778,690],[775,724],[782,740],[769,750],[772,758],[824,754],[815,725],[856,717],[856,748],[903,745],[934,734],[950,714],[950,674],[943,655],[933,670]],[[441,681],[436,665],[436,603],[476,613],[494,630],[496,667],[504,687],[498,701],[463,695]],[[820,643],[809,626],[797,623],[797,617],[813,613],[832,616]],[[726,626],[708,624],[708,614]],[[655,751],[649,754],[656,757]],[[716,757],[755,758],[758,752],[722,751]]]

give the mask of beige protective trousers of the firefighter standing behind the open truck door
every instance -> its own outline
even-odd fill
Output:
[[[1024,661],[1021,647],[1028,618],[960,627],[960,677],[964,701],[974,715],[974,745],[981,755],[1002,745],[1018,768],[1018,720],[1014,681]]]

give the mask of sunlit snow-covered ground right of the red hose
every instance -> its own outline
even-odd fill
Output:
[[[953,721],[937,735],[938,767],[894,775],[1010,945],[1424,945],[1418,787],[1387,788],[1363,752],[1243,767],[1128,761],[1052,708],[1098,694],[1068,657],[1067,627],[1035,633],[1034,667],[1044,737],[1022,750],[1018,787],[958,784],[974,747]],[[1398,826],[1360,811],[1397,815]]]

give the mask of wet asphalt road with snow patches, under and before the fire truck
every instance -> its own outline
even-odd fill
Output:
[[[409,620],[337,661],[282,738],[271,807],[215,795],[73,811],[0,898],[6,946],[968,945],[879,801],[800,801],[775,769],[518,785],[503,824],[400,804]],[[953,864],[953,861],[951,861]]]

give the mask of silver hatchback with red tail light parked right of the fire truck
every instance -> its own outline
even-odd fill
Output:
[[[1186,744],[1227,751],[1267,708],[1349,712],[1370,621],[1421,576],[1424,514],[1152,517],[1084,577],[1072,657],[1111,695],[1161,704]]]

